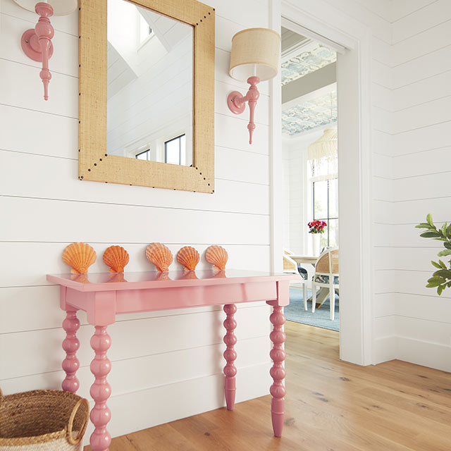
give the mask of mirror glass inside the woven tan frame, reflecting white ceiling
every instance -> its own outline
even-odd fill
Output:
[[[191,166],[193,27],[108,0],[107,152]]]

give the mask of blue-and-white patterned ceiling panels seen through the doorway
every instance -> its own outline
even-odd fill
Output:
[[[336,52],[319,42],[282,27],[282,89],[302,84],[305,75],[335,63]],[[330,66],[333,67],[333,66]],[[292,82],[293,85],[289,85]],[[335,80],[333,80],[335,82]],[[306,82],[307,83],[307,82]],[[337,121],[337,93],[335,83],[316,89],[317,93],[302,92],[298,102],[292,100],[283,104],[282,130],[294,137],[303,132],[323,127]]]

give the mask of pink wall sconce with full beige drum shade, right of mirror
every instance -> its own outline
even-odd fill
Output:
[[[276,77],[280,55],[280,35],[268,28],[247,28],[237,32],[232,38],[229,75],[235,80],[247,81],[249,91],[243,96],[233,91],[228,94],[230,111],[240,114],[249,103],[249,144],[255,130],[254,111],[259,99],[257,84]]]

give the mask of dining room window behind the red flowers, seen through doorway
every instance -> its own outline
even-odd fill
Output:
[[[311,187],[314,221],[326,221],[321,247],[338,246],[338,178],[316,180]]]

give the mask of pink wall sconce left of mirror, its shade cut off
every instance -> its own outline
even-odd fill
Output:
[[[44,84],[44,100],[49,100],[49,58],[54,53],[51,38],[54,37],[54,27],[51,26],[51,16],[66,16],[77,8],[77,0],[13,0],[27,11],[35,11],[39,20],[35,28],[30,28],[23,33],[20,44],[25,55],[33,61],[42,62],[42,70],[39,73]]]

